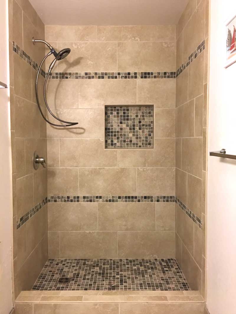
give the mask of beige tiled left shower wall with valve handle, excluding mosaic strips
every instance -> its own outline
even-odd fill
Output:
[[[13,52],[13,41],[39,62],[44,47],[32,36],[44,38],[44,24],[28,0],[9,0],[10,114],[12,140],[14,292],[30,290],[48,258],[47,204],[17,229],[16,224],[47,196],[47,169],[35,171],[32,154],[46,157],[46,123],[35,99],[36,71]],[[44,108],[43,108],[44,110]]]

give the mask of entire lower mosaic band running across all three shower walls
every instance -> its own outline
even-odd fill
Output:
[[[177,203],[186,215],[202,229],[202,220],[197,217],[186,205],[184,205],[176,196],[102,196],[102,195],[77,195],[77,196],[48,196],[29,210],[24,216],[17,220],[16,229],[19,229],[33,215],[35,215],[47,203]]]

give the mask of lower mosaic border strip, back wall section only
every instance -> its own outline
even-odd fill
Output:
[[[48,203],[170,203],[175,196],[48,196]]]

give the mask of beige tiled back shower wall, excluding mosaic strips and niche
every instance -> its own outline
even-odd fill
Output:
[[[45,26],[53,72],[175,71],[176,26]],[[51,60],[48,61],[48,64]],[[46,66],[46,71],[47,71]],[[175,78],[50,79],[48,196],[175,195]],[[151,104],[154,149],[104,149],[105,105]],[[48,203],[50,258],[175,257],[174,203]]]

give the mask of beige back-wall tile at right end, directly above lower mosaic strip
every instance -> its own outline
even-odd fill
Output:
[[[175,168],[138,168],[137,195],[175,195]]]

